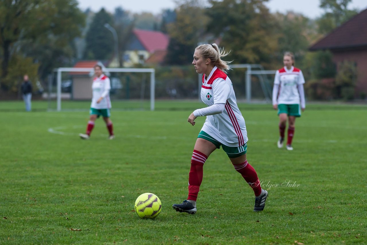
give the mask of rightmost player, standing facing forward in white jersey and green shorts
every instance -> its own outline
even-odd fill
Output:
[[[273,108],[278,109],[279,132],[278,148],[283,147],[284,131],[286,130],[288,117],[287,150],[293,150],[292,139],[296,117],[301,116],[305,110],[305,92],[303,84],[305,79],[302,71],[295,68],[294,55],[291,52],[284,53],[284,67],[276,71],[273,87]],[[300,107],[301,104],[301,107]]]

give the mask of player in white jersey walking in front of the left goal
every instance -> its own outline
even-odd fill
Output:
[[[92,83],[92,103],[90,109],[90,117],[87,125],[87,130],[85,134],[79,134],[80,138],[87,140],[89,139],[91,132],[94,127],[94,122],[99,116],[103,116],[103,120],[106,123],[108,132],[110,136],[109,140],[115,138],[113,134],[112,121],[110,119],[110,89],[111,83],[110,79],[102,73],[102,67],[100,65],[94,66],[95,77]]]

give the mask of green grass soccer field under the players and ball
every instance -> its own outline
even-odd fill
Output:
[[[33,108],[47,108],[34,102]],[[88,106],[88,105],[87,105]],[[310,104],[296,120],[294,151],[278,149],[270,105],[241,104],[248,162],[269,192],[265,210],[222,149],[205,163],[195,215],[187,198],[190,159],[204,122],[197,102],[157,111],[113,111],[115,140],[88,111],[23,112],[0,102],[1,244],[365,244],[367,105]],[[288,184],[285,184],[288,183]],[[162,211],[140,219],[135,199],[155,193]],[[80,229],[73,231],[70,229]]]

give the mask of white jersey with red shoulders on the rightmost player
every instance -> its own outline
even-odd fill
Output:
[[[302,71],[291,67],[290,70],[284,66],[275,73],[274,84],[279,84],[279,92],[273,96],[273,104],[300,104],[300,94],[297,86],[304,84],[305,78]]]

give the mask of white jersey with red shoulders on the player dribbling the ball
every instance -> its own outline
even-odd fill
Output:
[[[237,106],[232,82],[217,66],[214,66],[208,78],[203,74],[201,100],[207,106],[225,103],[222,113],[206,117],[201,130],[229,147],[240,147],[247,143],[245,119]]]

